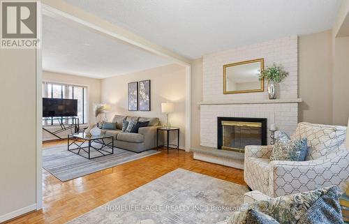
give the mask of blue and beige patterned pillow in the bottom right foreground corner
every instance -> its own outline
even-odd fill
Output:
[[[251,214],[253,210],[274,218],[280,224],[343,224],[339,195],[339,187],[331,186],[242,204],[228,224],[246,224],[251,215],[260,217],[260,214]],[[267,216],[262,218],[269,218]]]

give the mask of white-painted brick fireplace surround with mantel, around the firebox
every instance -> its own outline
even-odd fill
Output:
[[[202,98],[200,102],[200,144],[217,147],[217,117],[267,118],[267,127],[292,133],[297,127],[297,36],[239,47],[235,50],[205,55],[203,61]],[[252,59],[265,60],[265,66],[283,64],[288,77],[279,88],[278,100],[269,100],[265,91],[246,94],[223,94],[223,65]],[[268,143],[269,132],[268,132]],[[202,156],[202,155],[200,155]]]

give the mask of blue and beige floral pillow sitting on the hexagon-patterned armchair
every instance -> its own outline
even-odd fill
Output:
[[[306,137],[291,140],[283,131],[279,132],[270,160],[304,161],[308,149]]]

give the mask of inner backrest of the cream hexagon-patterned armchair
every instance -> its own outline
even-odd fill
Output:
[[[292,139],[302,137],[308,140],[309,148],[306,160],[314,160],[339,149],[346,139],[346,127],[301,122],[292,135]]]

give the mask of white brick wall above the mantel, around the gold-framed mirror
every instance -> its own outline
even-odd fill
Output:
[[[262,100],[267,91],[248,94],[223,94],[223,65],[264,58],[266,66],[283,64],[290,73],[280,84],[279,98],[297,98],[297,36],[270,40],[207,54],[203,57],[203,100]],[[265,84],[265,88],[267,85]]]

